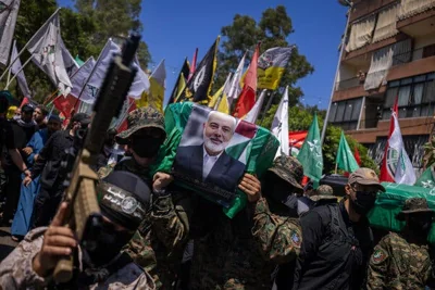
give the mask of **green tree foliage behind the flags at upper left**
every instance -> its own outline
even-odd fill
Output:
[[[139,21],[140,0],[75,2],[77,11],[69,8],[60,11],[62,39],[73,56],[78,54],[83,60],[89,56],[97,59],[109,37],[127,36],[129,31],[140,33],[142,29]],[[57,9],[55,0],[21,1],[14,36],[18,51]],[[24,63],[29,56],[25,51],[20,59]],[[145,42],[139,46],[138,58],[142,67],[146,67],[150,61],[150,53]],[[46,74],[32,62],[24,68],[24,73],[35,100],[41,102],[55,91]],[[4,88],[4,79],[0,86],[1,89]],[[16,81],[13,81],[9,89],[13,96],[21,97]]]

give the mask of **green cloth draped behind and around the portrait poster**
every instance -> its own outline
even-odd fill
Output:
[[[173,103],[166,106],[164,119],[167,138],[159,151],[158,162],[156,162],[157,165],[151,168],[152,175],[157,172],[171,172],[176,150],[182,140],[183,131],[187,125],[192,108],[194,103],[191,102]],[[246,172],[254,174],[258,178],[261,178],[265,171],[272,166],[278,147],[278,140],[272,136],[268,129],[257,127],[257,135],[251,140],[246,151]],[[196,191],[194,187],[185,185],[178,180],[175,180],[174,182],[184,188]],[[198,193],[201,192],[198,191]],[[246,206],[247,203],[247,197],[244,192],[237,190],[236,193],[237,197],[233,201],[233,204],[228,209],[223,207],[223,212],[229,218],[233,218]]]

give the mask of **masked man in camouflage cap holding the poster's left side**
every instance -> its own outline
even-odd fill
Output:
[[[151,274],[157,288],[170,289],[175,280],[188,235],[186,198],[178,190],[167,190],[173,180],[166,173],[151,176],[158,151],[166,133],[164,117],[153,108],[140,108],[129,113],[128,129],[116,136],[119,144],[127,146],[129,157],[114,167],[99,171],[100,177],[112,171],[127,171],[140,176],[152,188],[151,212],[125,251]]]

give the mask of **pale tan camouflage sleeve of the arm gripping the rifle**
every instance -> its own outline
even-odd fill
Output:
[[[44,287],[49,278],[38,276],[32,262],[42,247],[46,228],[36,228],[0,264],[0,286],[2,289],[34,289]]]

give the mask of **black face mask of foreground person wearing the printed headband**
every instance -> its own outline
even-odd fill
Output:
[[[86,249],[86,253],[94,266],[101,266],[111,262],[133,238],[134,232],[119,231],[109,223],[102,223],[96,247]]]

